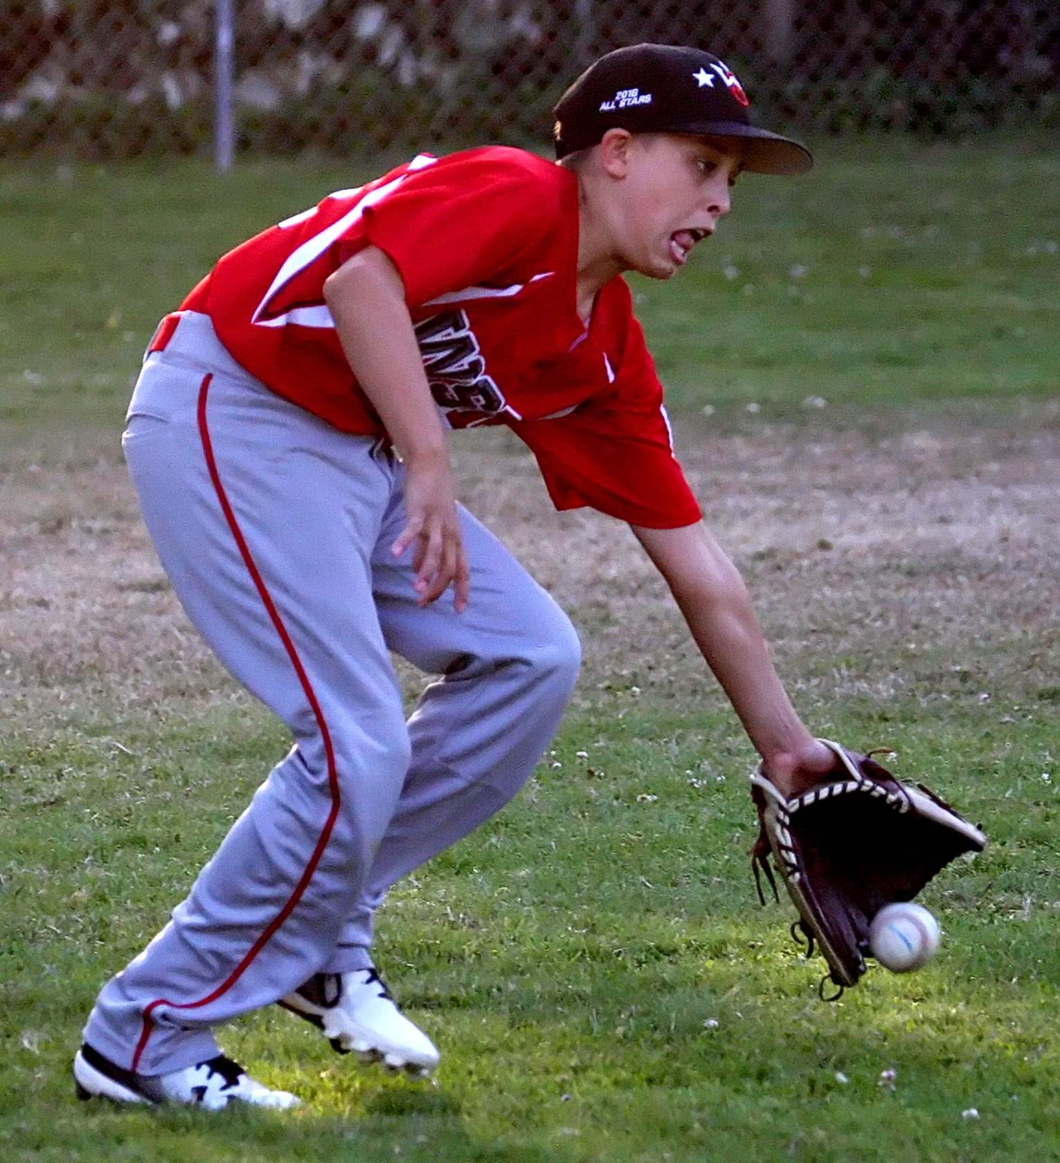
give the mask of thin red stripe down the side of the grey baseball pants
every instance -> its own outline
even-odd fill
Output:
[[[243,564],[247,566],[247,571],[254,580],[254,585],[264,602],[265,609],[269,613],[269,618],[272,625],[276,627],[276,633],[279,635],[280,641],[284,644],[284,649],[287,651],[287,657],[291,659],[291,665],[294,668],[294,672],[298,675],[298,680],[301,684],[301,688],[305,692],[306,699],[308,700],[310,707],[313,711],[313,716],[316,720],[316,726],[320,728],[320,735],[323,740],[325,755],[327,756],[328,765],[328,786],[330,789],[332,795],[332,808],[328,813],[327,821],[323,825],[323,829],[320,833],[320,839],[316,841],[316,847],[313,849],[313,855],[310,857],[308,864],[301,875],[298,884],[294,886],[294,891],[291,893],[287,902],[284,907],[276,914],[272,921],[269,923],[268,928],[262,933],[262,935],[254,942],[254,944],[248,950],[243,959],[236,965],[236,968],[228,975],[228,977],[205,998],[199,1001],[185,1001],[180,1004],[175,1004],[168,1001],[165,998],[158,998],[152,1001],[143,1012],[143,1033],[140,1036],[140,1042],[136,1046],[136,1053],[133,1055],[133,1070],[136,1071],[140,1065],[140,1059],[143,1055],[144,1049],[147,1049],[148,1040],[151,1036],[151,1030],[155,1028],[151,1014],[158,1006],[171,1006],[173,1009],[197,1009],[200,1006],[209,1005],[216,998],[221,997],[233,984],[239,980],[247,966],[254,961],[254,958],[261,952],[263,946],[266,941],[276,933],[276,930],[284,923],[284,921],[291,915],[291,912],[301,900],[303,894],[306,891],[306,886],[316,871],[316,865],[320,863],[320,857],[323,855],[323,850],[327,847],[328,840],[330,839],[332,830],[335,827],[335,819],[339,815],[340,798],[339,798],[339,773],[335,768],[335,752],[332,748],[332,737],[328,732],[327,722],[323,718],[323,712],[320,709],[320,704],[316,700],[316,695],[313,691],[313,685],[310,682],[308,675],[306,675],[305,668],[301,664],[301,659],[298,656],[298,650],[294,643],[291,641],[291,635],[287,633],[287,628],[283,623],[283,619],[279,616],[279,611],[276,608],[276,604],[272,601],[272,597],[269,593],[268,586],[255,564],[254,557],[250,554],[250,549],[247,545],[247,541],[243,537],[243,533],[240,529],[239,521],[236,520],[235,513],[233,512],[232,505],[228,501],[228,494],[225,492],[225,486],[221,484],[221,476],[218,472],[218,463],[213,452],[213,442],[209,436],[209,427],[206,421],[206,400],[209,394],[209,383],[213,379],[211,373],[202,380],[202,386],[199,388],[199,436],[202,441],[202,452],[206,457],[206,466],[209,470],[209,479],[213,481],[214,492],[218,494],[218,501],[221,505],[221,511],[225,514],[225,520],[228,522],[228,528],[232,530],[232,535],[235,538],[235,543],[239,547],[240,556],[243,558]]]

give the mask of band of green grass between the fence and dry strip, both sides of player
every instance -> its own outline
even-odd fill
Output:
[[[140,351],[225,250],[363,170],[0,167],[0,420],[113,416]],[[634,279],[677,408],[1055,392],[1060,160],[980,140],[827,143],[754,174],[673,285]]]

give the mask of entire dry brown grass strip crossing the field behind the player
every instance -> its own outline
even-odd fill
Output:
[[[0,475],[0,698],[15,730],[235,693],[162,573],[114,441],[93,440]],[[692,424],[680,443],[796,690],[889,698],[927,658],[947,659],[941,685],[1009,683],[1016,697],[1055,682],[1055,409],[883,436]],[[583,698],[699,688],[702,663],[628,530],[554,514],[506,434],[456,448],[469,506],[582,628]]]

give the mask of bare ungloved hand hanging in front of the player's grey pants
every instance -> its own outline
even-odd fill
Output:
[[[448,457],[413,457],[406,462],[405,513],[405,528],[391,552],[400,557],[412,547],[420,606],[429,606],[451,585],[456,612],[463,613],[470,572]]]

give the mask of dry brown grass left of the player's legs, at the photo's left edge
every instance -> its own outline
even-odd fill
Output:
[[[0,538],[0,668],[15,726],[219,686],[113,454],[8,471]]]

